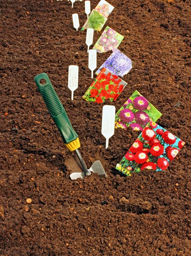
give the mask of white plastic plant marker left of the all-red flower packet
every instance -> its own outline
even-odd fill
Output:
[[[70,65],[68,70],[68,88],[72,91],[72,100],[74,91],[78,88],[78,66]]]

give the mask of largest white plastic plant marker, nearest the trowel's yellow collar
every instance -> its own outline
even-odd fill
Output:
[[[116,108],[114,106],[103,106],[101,134],[106,138],[105,148],[108,148],[109,139],[115,132],[115,114]]]

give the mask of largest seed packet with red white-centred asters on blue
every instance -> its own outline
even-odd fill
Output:
[[[149,122],[116,169],[127,176],[144,169],[162,172],[185,143],[155,122]]]

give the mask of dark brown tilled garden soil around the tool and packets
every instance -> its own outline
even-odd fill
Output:
[[[92,83],[84,1],[0,3],[0,256],[191,255],[191,2],[110,0],[104,26],[124,36],[118,49],[134,61],[128,84],[107,105],[116,110],[138,90],[161,113],[157,121],[185,146],[166,172],[126,177],[115,167],[139,133],[117,129],[105,149],[103,104],[82,99]],[[91,9],[98,1],[91,1]],[[103,31],[103,29],[102,29]],[[101,32],[94,33],[94,44]],[[98,54],[98,65],[111,52]],[[69,65],[79,66],[71,101]],[[34,82],[45,72],[81,141],[87,167],[104,162],[107,178],[72,181],[75,154],[64,146]],[[94,76],[96,77],[96,76]],[[30,204],[26,199],[31,198]]]

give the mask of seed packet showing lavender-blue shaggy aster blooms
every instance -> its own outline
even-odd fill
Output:
[[[124,53],[116,49],[109,58],[101,65],[96,71],[96,75],[101,72],[101,69],[105,67],[110,70],[116,76],[126,75],[133,67],[132,61]]]

